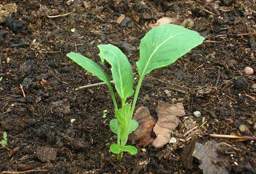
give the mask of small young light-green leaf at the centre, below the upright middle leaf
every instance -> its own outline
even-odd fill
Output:
[[[121,109],[115,111],[115,115],[120,126],[122,128],[125,128],[129,116],[131,115],[131,104],[125,103],[125,105]]]

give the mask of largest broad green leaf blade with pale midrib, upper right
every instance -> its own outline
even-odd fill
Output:
[[[174,63],[204,39],[196,31],[174,24],[151,29],[140,42],[140,60],[136,63],[140,77]]]

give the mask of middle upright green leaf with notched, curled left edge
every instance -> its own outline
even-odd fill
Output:
[[[133,72],[131,65],[122,51],[111,44],[98,45],[100,50],[99,57],[102,63],[107,60],[111,65],[112,77],[115,88],[122,101],[126,101],[133,93]]]

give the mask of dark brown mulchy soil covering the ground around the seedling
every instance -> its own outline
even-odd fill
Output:
[[[7,146],[16,151],[0,149],[0,171],[200,174],[200,161],[194,159],[187,169],[180,160],[194,135],[199,143],[214,139],[231,145],[218,151],[229,159],[222,167],[230,173],[256,173],[254,141],[207,135],[256,135],[256,76],[243,74],[246,66],[256,71],[256,35],[250,34],[256,30],[255,1],[206,6],[203,0],[2,0],[0,5],[7,3],[16,3],[17,12],[0,24],[0,134],[7,132]],[[59,14],[67,15],[47,17]],[[122,14],[125,19],[116,23]],[[206,41],[146,76],[136,107],[147,107],[157,118],[158,100],[179,101],[186,116],[171,135],[177,143],[160,149],[149,145],[146,152],[134,143],[138,154],[125,153],[118,163],[109,151],[116,137],[108,126],[114,111],[108,88],[76,90],[100,81],[66,54],[76,51],[99,63],[96,46],[111,43],[125,52],[138,77],[140,39],[163,16],[191,19],[192,29]],[[102,67],[110,75],[110,66]],[[105,109],[110,113],[102,118]],[[195,118],[194,111],[201,117]],[[249,131],[241,133],[240,125]]]

